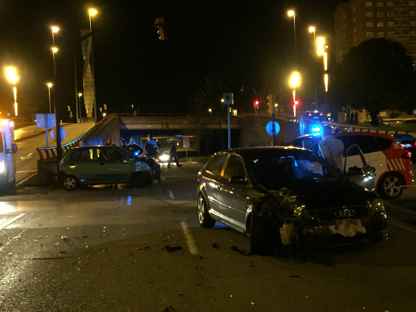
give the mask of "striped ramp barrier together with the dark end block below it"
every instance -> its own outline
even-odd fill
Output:
[[[77,140],[62,145],[61,155],[65,154],[67,150],[72,149],[73,147],[79,147],[87,143],[96,131],[114,118],[118,118],[118,116],[116,114],[107,116],[89,128],[87,132],[85,132]],[[41,185],[56,183],[58,178],[58,164],[60,161],[60,158],[58,158],[57,147],[37,147],[36,151],[39,154],[39,160],[37,161],[38,182]]]

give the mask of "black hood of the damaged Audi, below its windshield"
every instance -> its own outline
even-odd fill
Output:
[[[366,201],[377,198],[376,194],[345,179],[295,180],[287,188],[296,193],[308,210],[342,206],[365,206]]]

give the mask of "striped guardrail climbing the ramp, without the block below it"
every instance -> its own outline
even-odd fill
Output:
[[[102,126],[104,126],[106,123],[108,123],[110,120],[116,117],[118,117],[117,114],[110,114],[106,116],[104,119],[97,122],[97,124],[89,128],[87,132],[85,132],[77,140],[62,145],[61,146],[62,155],[67,150],[72,149],[73,147],[81,146],[81,142],[84,142],[84,143],[87,142],[98,129],[100,129]],[[58,155],[56,146],[55,147],[37,147],[36,151],[39,154],[39,159],[41,161],[45,159],[50,159],[50,158],[57,158],[57,155]]]

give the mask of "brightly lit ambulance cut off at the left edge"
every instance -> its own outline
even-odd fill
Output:
[[[13,120],[0,119],[0,136],[0,193],[5,193],[16,184],[17,145]]]

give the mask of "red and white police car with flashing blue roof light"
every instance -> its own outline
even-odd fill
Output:
[[[332,136],[344,143],[344,157],[349,146],[358,144],[366,162],[375,169],[376,192],[380,197],[398,198],[404,188],[412,186],[411,152],[397,143],[393,136],[369,132],[339,132]],[[300,136],[286,145],[303,147],[317,153],[321,140],[320,133],[317,132]],[[348,155],[347,167],[361,166],[358,152],[352,153]]]

